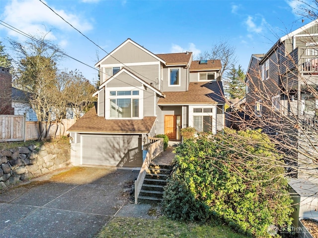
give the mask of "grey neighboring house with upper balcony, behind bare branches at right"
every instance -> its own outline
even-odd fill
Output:
[[[299,177],[316,173],[318,20],[281,37],[266,54],[252,55],[245,83],[245,123],[276,137]]]

